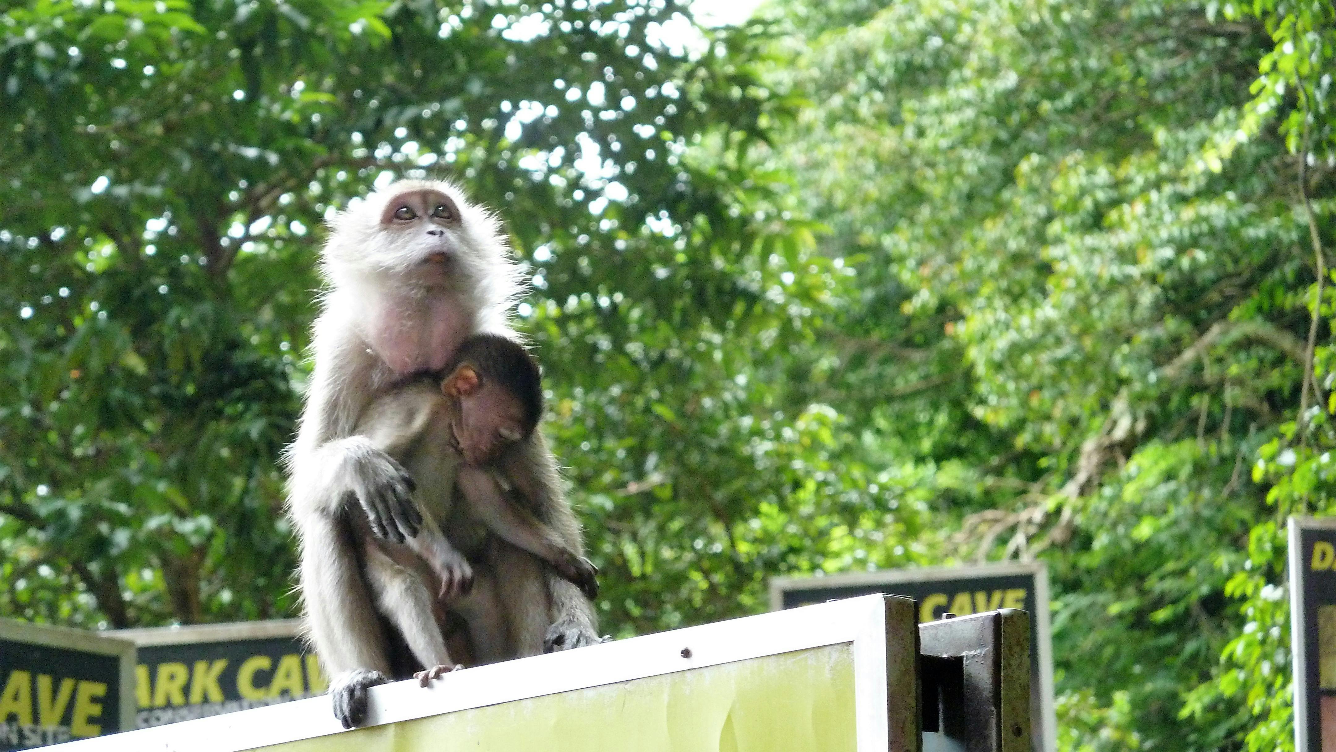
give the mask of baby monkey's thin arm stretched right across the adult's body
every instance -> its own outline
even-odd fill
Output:
[[[469,508],[494,534],[542,558],[591,598],[599,594],[599,569],[565,545],[556,530],[506,498],[492,472],[461,465],[457,482]]]

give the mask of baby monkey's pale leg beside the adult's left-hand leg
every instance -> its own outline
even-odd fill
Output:
[[[422,580],[394,564],[375,545],[367,546],[366,580],[375,605],[403,636],[409,650],[424,667],[454,667],[445,636],[436,621],[434,597]]]

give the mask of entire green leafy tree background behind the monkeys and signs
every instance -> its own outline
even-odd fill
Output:
[[[1042,558],[1066,749],[1292,745],[1333,505],[1327,0],[28,0],[0,15],[0,613],[294,610],[321,222],[460,180],[533,274],[599,608]]]

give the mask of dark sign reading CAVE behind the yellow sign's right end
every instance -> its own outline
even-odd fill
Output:
[[[919,622],[943,613],[969,616],[1002,608],[1030,614],[1030,693],[1034,749],[1057,749],[1053,708],[1053,641],[1049,632],[1049,576],[1043,564],[994,564],[831,574],[776,577],[770,582],[771,610],[886,593],[919,604]]]

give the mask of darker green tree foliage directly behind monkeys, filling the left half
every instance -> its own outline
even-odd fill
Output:
[[[759,81],[758,41],[685,13],[36,0],[0,16],[4,610],[291,613],[277,461],[321,222],[394,175],[461,180],[532,264],[521,326],[619,573],[612,629],[760,608],[764,573],[810,561],[811,540],[854,556],[851,530],[880,521],[867,470],[787,386],[846,272],[749,156],[791,110]]]

